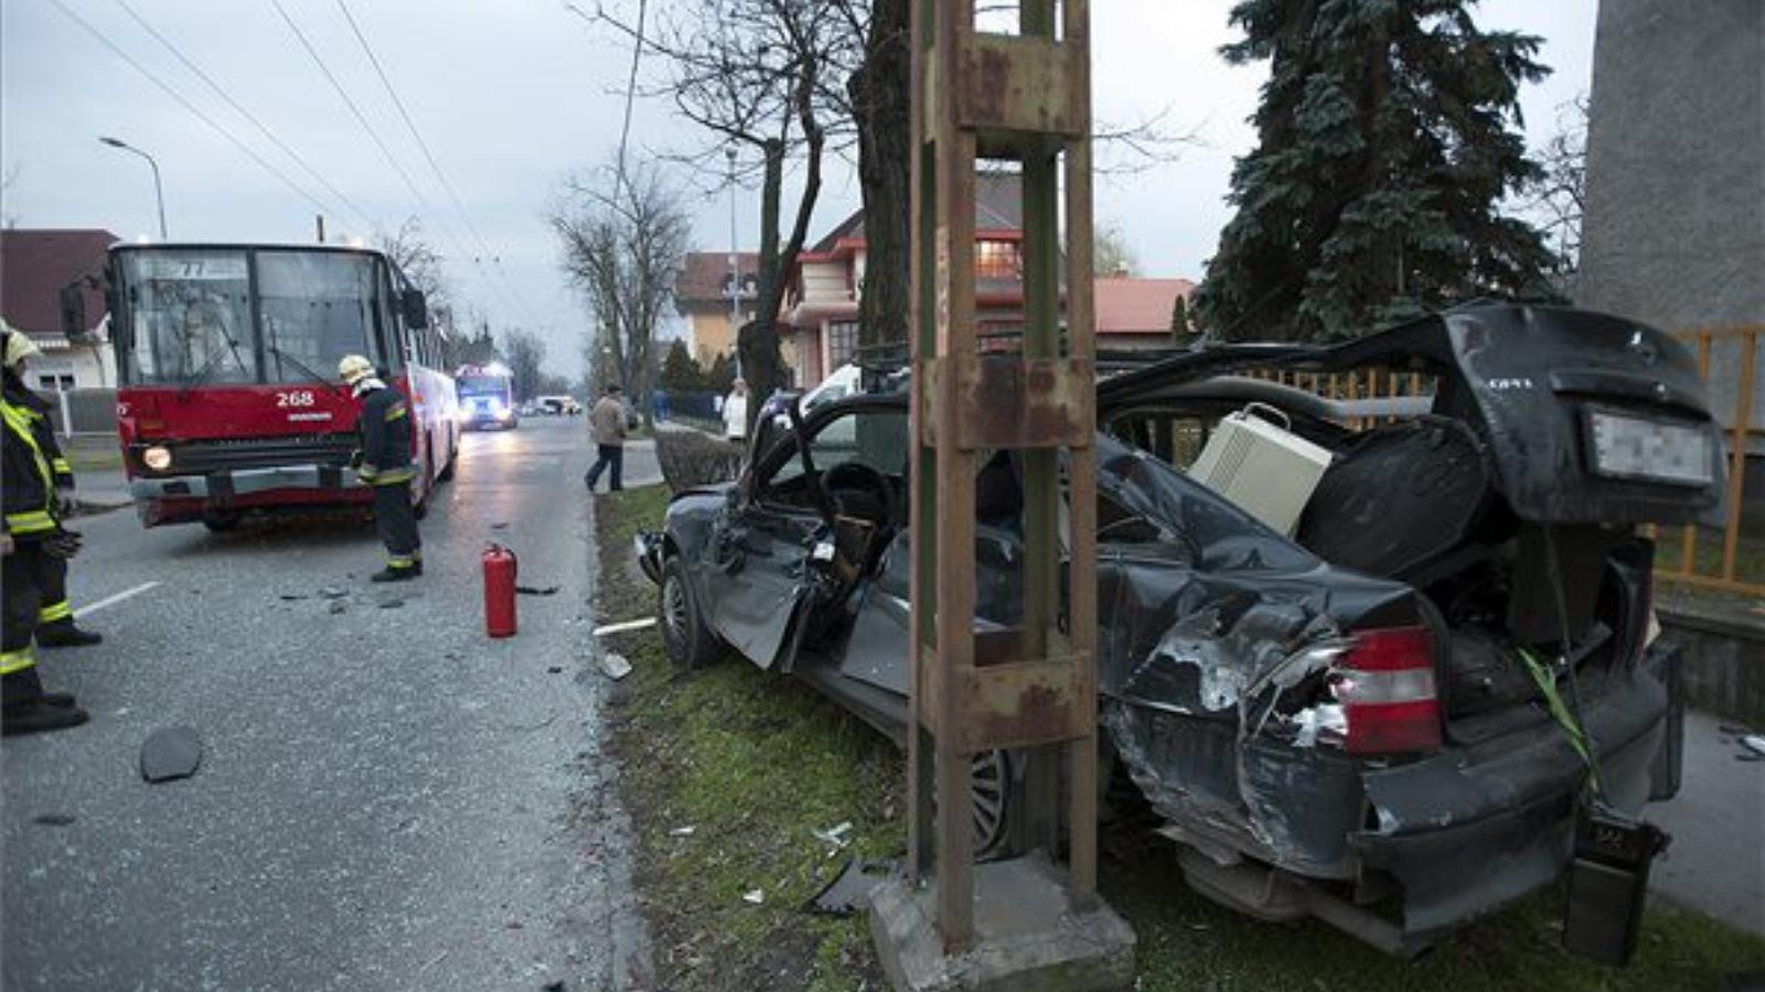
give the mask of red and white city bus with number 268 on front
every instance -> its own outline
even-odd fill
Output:
[[[454,380],[424,295],[387,254],[334,245],[118,244],[104,272],[116,432],[145,526],[367,507],[337,360],[409,402],[418,514],[454,471]],[[64,323],[79,321],[64,295]],[[83,323],[83,321],[81,321]]]

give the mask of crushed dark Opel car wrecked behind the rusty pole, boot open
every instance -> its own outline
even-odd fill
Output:
[[[1244,374],[1354,369],[1407,395]],[[1326,452],[1285,531],[1179,468],[1246,410]],[[773,401],[736,482],[672,498],[637,552],[678,664],[732,648],[904,740],[907,420],[900,392]],[[1677,791],[1641,526],[1719,514],[1723,445],[1666,335],[1474,305],[1145,364],[1098,385],[1098,425],[1103,750],[1195,890],[1407,953],[1555,879],[1594,778],[1627,812]],[[974,625],[1010,630],[1022,489],[1010,452],[981,461]],[[981,853],[1006,842],[1013,764],[976,757]]]

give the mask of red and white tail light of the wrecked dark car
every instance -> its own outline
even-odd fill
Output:
[[[1359,630],[1336,662],[1348,754],[1398,754],[1440,747],[1433,641],[1423,627]]]

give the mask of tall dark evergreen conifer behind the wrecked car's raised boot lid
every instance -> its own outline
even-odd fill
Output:
[[[1539,39],[1474,0],[1241,0],[1269,60],[1197,319],[1225,339],[1333,341],[1484,297],[1550,297],[1550,251],[1498,205],[1539,177],[1518,132]]]

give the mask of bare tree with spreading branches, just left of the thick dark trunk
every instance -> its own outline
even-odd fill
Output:
[[[755,395],[784,383],[778,309],[821,196],[830,150],[852,139],[844,92],[858,64],[861,35],[840,4],[822,0],[680,0],[651,35],[630,18],[600,19],[660,55],[676,109],[715,139],[688,161],[713,166],[724,148],[738,152],[740,177],[761,180],[761,251],[755,316],[736,335],[741,374]],[[801,191],[782,226],[784,175],[796,166]],[[748,404],[750,420],[759,404]]]

